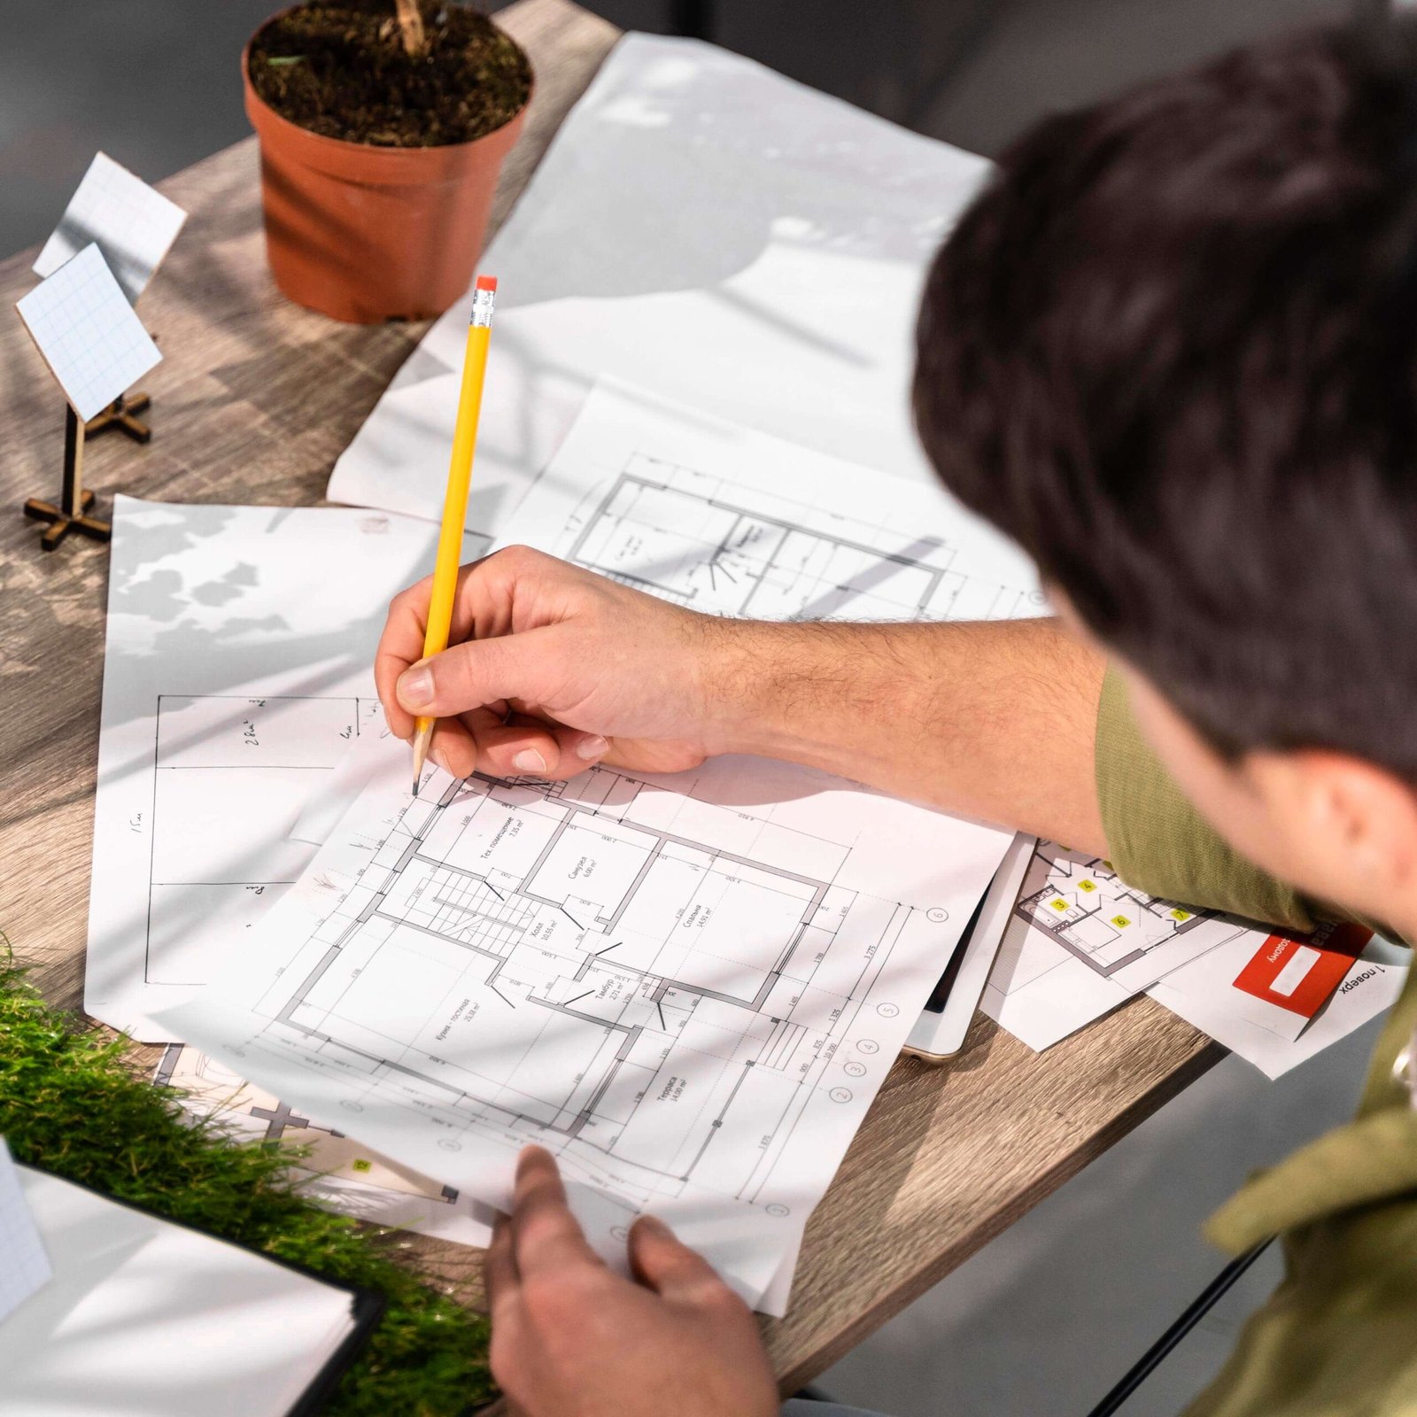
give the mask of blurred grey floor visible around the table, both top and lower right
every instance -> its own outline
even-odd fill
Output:
[[[156,180],[244,136],[237,55],[275,0],[9,6],[0,43],[0,255],[44,238],[94,150]],[[669,0],[605,0],[665,30]],[[1333,0],[718,0],[730,48],[995,153],[1081,102]],[[864,23],[863,23],[864,21]],[[1339,1119],[1372,1041],[1277,1085],[1230,1061],[863,1343],[825,1379],[898,1417],[1084,1417],[1219,1267],[1203,1216]],[[1274,1281],[1255,1271],[1127,1408],[1175,1413]]]

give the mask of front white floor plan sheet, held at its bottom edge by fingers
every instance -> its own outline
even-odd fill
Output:
[[[608,1254],[652,1209],[760,1302],[1007,837],[731,758],[411,801],[374,745],[302,880],[163,1022],[482,1200],[540,1141]]]

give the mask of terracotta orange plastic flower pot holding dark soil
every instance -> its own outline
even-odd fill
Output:
[[[441,315],[466,293],[526,105],[470,143],[378,147],[276,113],[251,84],[249,43],[241,82],[261,140],[266,255],[292,300],[377,324]]]

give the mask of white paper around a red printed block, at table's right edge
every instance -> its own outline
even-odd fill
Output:
[[[1376,1019],[1403,990],[1411,952],[1373,938],[1333,998],[1298,1037],[1267,1027],[1264,1015],[1247,1006],[1248,996],[1231,988],[1236,975],[1254,954],[1258,931],[1236,938],[1193,964],[1169,973],[1146,992],[1179,1013],[1202,1033],[1253,1063],[1265,1077],[1282,1077],[1292,1067],[1321,1053]],[[1258,1000],[1254,1000],[1258,1002]]]

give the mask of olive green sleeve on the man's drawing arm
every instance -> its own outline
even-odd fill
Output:
[[[1331,918],[1238,856],[1190,805],[1142,738],[1115,667],[1097,710],[1097,796],[1112,866],[1128,886],[1298,931]]]

